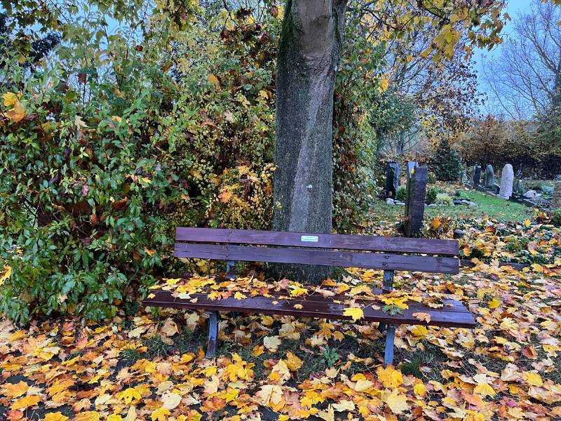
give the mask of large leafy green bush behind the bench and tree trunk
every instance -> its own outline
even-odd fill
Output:
[[[131,45],[124,32],[104,36],[104,13],[65,24],[48,64],[30,70],[19,53],[3,57],[0,312],[13,321],[113,316],[164,272],[185,272],[173,258],[178,225],[271,226],[280,18],[257,11],[257,24],[232,13],[222,30],[205,16],[177,32],[158,12]],[[144,25],[140,17],[121,27]],[[372,45],[355,38],[335,95],[339,232],[356,230],[375,196],[367,115],[379,93],[357,77]]]

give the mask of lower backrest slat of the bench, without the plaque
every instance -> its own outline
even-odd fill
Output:
[[[457,274],[457,258],[355,253],[302,248],[272,248],[224,246],[217,244],[175,243],[175,257],[213,260],[243,260],[246,262],[297,263],[337,267],[405,270]]]

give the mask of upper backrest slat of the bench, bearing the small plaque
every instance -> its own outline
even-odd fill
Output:
[[[317,239],[315,237],[317,237]],[[384,251],[388,253],[426,253],[439,255],[459,254],[457,240],[418,239],[407,237],[177,227],[175,231],[175,239],[176,241],[192,241],[201,243],[343,248],[349,250]],[[305,241],[303,241],[303,239]]]

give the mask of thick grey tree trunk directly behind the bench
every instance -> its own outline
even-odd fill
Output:
[[[332,227],[333,89],[346,0],[288,0],[278,46],[273,229]],[[327,267],[283,265],[278,275],[317,282]]]

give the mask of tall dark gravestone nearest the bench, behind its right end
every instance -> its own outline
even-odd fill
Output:
[[[426,167],[416,167],[407,182],[405,201],[405,235],[414,236],[423,227],[426,199]]]

